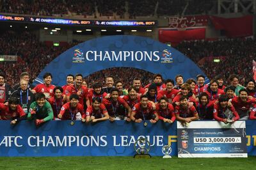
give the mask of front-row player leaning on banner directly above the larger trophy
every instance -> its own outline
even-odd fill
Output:
[[[131,120],[136,123],[141,123],[143,120],[150,120],[151,123],[156,123],[158,118],[157,112],[152,107],[152,104],[149,102],[147,95],[142,95],[140,97],[141,102],[135,104],[132,108]]]

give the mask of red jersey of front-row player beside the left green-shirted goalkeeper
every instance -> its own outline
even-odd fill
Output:
[[[67,104],[64,104],[61,107],[60,114],[62,115],[61,120],[76,120],[76,114],[81,114],[82,118],[84,117],[84,107],[81,104],[77,104],[77,106],[71,107],[70,102],[67,102]]]

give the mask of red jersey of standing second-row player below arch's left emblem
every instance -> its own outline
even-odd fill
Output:
[[[74,84],[67,86],[65,93],[68,97],[77,94],[79,96],[79,104],[81,105],[84,105],[84,98],[88,97],[88,89],[86,87],[81,86],[77,89]]]

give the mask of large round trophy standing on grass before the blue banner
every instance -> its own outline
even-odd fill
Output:
[[[134,150],[136,151],[134,158],[151,158],[151,155],[148,154],[150,143],[143,137],[140,137],[140,139],[134,143]]]

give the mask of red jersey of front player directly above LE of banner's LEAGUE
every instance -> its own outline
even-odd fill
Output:
[[[111,100],[111,98],[109,98],[109,99],[104,98],[102,100],[102,104],[104,104],[106,106],[108,114],[111,117],[115,117],[120,114],[121,115],[124,114],[124,112],[122,111],[121,105],[124,107],[129,107],[127,102],[125,102],[125,100],[121,97],[118,97],[116,102]],[[126,116],[126,115],[122,115],[122,116]]]

